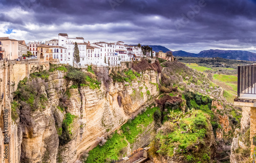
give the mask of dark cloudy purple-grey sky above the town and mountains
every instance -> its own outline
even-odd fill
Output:
[[[0,0],[0,37],[256,52],[256,0]]]

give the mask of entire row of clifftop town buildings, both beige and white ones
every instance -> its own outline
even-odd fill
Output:
[[[75,43],[79,49],[79,62],[74,62]],[[29,57],[28,57],[28,54]],[[45,42],[11,39],[0,37],[0,60],[38,59],[54,64],[70,64],[72,66],[87,67],[118,66],[121,62],[140,61],[141,58],[163,58],[166,53],[156,53],[150,46],[127,45],[118,42],[84,42],[83,37],[69,37],[68,34],[59,33],[58,39]]]

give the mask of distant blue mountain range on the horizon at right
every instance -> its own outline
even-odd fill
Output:
[[[205,57],[205,58],[214,58],[220,57],[225,59],[236,59],[236,60],[247,60],[247,61],[256,61],[256,53],[247,52],[247,51],[224,51],[224,50],[207,50],[202,51],[198,54],[188,53],[185,51],[175,51],[173,52],[174,56],[180,57]]]

